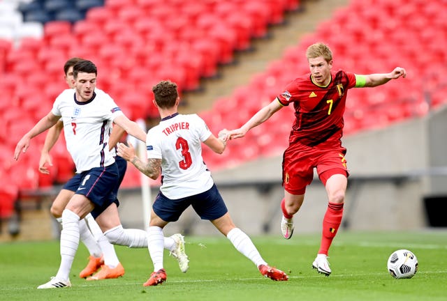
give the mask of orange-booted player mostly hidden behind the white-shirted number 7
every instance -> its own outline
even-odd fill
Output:
[[[64,64],[64,79],[69,88],[74,87],[73,81],[73,65],[82,61],[82,59],[73,57],[68,59]],[[50,151],[64,128],[63,121],[59,120],[56,125],[52,126],[47,132],[45,143],[41,150],[41,158],[39,160],[38,170],[41,173],[49,174],[49,166],[52,166]],[[115,187],[115,195],[118,194],[119,185],[122,183],[124,174],[126,173],[127,162],[122,157],[116,156],[115,146],[117,141],[124,133],[124,130],[115,125],[110,133],[108,148],[115,158],[119,171],[119,183]],[[75,194],[78,189],[79,175],[74,176],[62,187],[56,199],[54,199],[50,208],[50,213],[57,219],[57,222],[62,224],[62,212],[64,211],[68,201]],[[89,262],[87,266],[79,273],[80,278],[87,278],[87,280],[113,279],[122,277],[124,275],[124,267],[119,262],[115,248],[105,238],[103,231],[99,228],[91,214],[80,219],[80,240],[84,243],[89,251]],[[179,261],[180,270],[186,272],[188,269],[188,260],[183,256],[182,249],[184,249],[184,238],[179,233],[165,238],[165,247],[173,254],[177,261]],[[95,274],[96,273],[96,274]],[[93,275],[94,274],[94,275]],[[93,276],[92,276],[93,275]]]

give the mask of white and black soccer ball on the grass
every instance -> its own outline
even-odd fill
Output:
[[[418,272],[418,258],[407,249],[398,249],[388,258],[388,272],[396,279],[411,278]]]

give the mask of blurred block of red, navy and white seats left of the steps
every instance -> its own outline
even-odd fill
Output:
[[[168,0],[168,5],[161,5],[159,0],[34,0],[17,1],[10,8],[2,3],[1,11],[14,13],[2,14],[13,17],[1,22],[14,30],[4,31],[6,39],[0,43],[0,77],[4,95],[13,100],[8,105],[17,106],[3,118],[2,141],[8,141],[9,135],[7,144],[12,150],[17,139],[50,111],[52,100],[65,88],[62,65],[70,56],[98,65],[98,87],[116,98],[131,118],[158,116],[151,103],[153,84],[171,79],[180,93],[198,89],[200,78],[217,75],[219,64],[232,63],[233,52],[248,49],[251,38],[264,36],[268,24],[281,22],[288,9],[285,1],[281,6],[267,0],[256,5],[245,2]],[[36,77],[36,72],[45,72],[45,77]],[[42,142],[43,138],[36,139],[35,147]],[[72,175],[71,160],[57,145],[55,176],[27,171],[28,188],[63,183]],[[23,157],[27,155],[17,168],[32,164],[36,170],[36,162]]]

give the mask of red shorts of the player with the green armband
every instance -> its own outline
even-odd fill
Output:
[[[288,193],[304,194],[307,185],[314,179],[314,168],[323,185],[330,176],[349,176],[346,167],[346,148],[321,149],[303,144],[291,144],[284,152],[282,162],[282,184]]]

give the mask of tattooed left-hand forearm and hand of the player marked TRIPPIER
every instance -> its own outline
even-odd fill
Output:
[[[129,143],[129,146],[119,143],[117,145],[117,155],[131,162],[139,171],[149,178],[152,178],[153,180],[159,178],[161,172],[161,159],[148,159],[147,162],[142,162],[142,160],[135,155],[135,150],[131,143]]]

